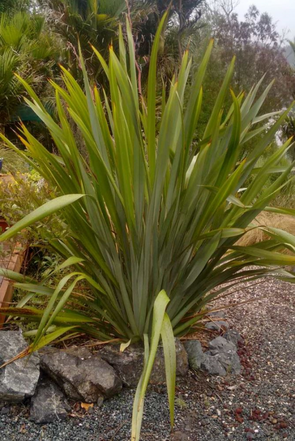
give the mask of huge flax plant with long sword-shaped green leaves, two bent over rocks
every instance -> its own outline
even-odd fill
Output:
[[[201,141],[192,147],[213,42],[191,85],[187,84],[191,60],[184,53],[169,96],[163,93],[157,120],[157,52],[165,19],[164,15],[152,48],[147,100],[138,93],[134,42],[127,21],[128,48],[120,32],[119,57],[111,46],[107,65],[93,48],[109,81],[110,100],[90,86],[80,58],[84,89],[66,69],[62,69],[63,88],[51,82],[56,92],[57,123],[32,88],[19,78],[32,98],[27,100],[29,106],[48,127],[59,154],[48,152],[24,125],[20,138],[26,152],[0,135],[56,189],[56,198],[25,216],[0,240],[60,210],[67,234],[59,238],[54,230],[48,230],[45,237],[64,259],[61,267],[75,267],[55,287],[31,279],[21,283],[19,274],[3,270],[1,273],[15,280],[17,287],[48,297],[44,310],[24,306],[4,313],[39,323],[34,342],[25,353],[69,332],[100,340],[115,337],[126,344],[143,341],[145,366],[135,395],[132,440],[139,440],[144,396],[160,336],[173,425],[173,336],[193,332],[207,303],[229,286],[273,275],[273,265],[295,264],[293,255],[280,253],[286,246],[294,248],[295,237],[279,229],[265,228],[270,239],[257,246],[235,245],[257,214],[274,210],[269,203],[292,169],[293,164],[276,169],[291,140],[257,167],[289,109],[271,127],[266,123],[267,131],[266,126],[257,126],[268,120],[268,115],[259,116],[259,112],[271,85],[261,95],[259,82],[246,98],[242,93],[235,96],[230,91],[233,59]],[[186,88],[189,99],[184,105]],[[223,114],[229,93],[232,105]],[[85,141],[89,162],[79,152],[70,118]],[[256,146],[239,162],[243,144],[251,138],[256,139]],[[277,177],[265,188],[270,169],[275,169]],[[239,193],[251,175],[251,183]],[[278,268],[276,274],[294,280],[283,269]],[[77,296],[75,287],[81,280],[88,284],[89,293]]]

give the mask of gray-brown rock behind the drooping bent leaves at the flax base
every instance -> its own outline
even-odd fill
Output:
[[[176,374],[184,377],[188,372],[188,359],[185,349],[179,339],[175,339],[176,345]],[[109,345],[99,352],[100,356],[110,363],[124,386],[134,388],[137,386],[144,362],[144,348],[140,344],[129,346],[124,352],[119,351],[118,345]],[[152,384],[159,384],[166,381],[165,360],[163,348],[159,347],[154,366],[150,375]]]

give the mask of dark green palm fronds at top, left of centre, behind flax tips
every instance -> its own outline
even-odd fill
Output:
[[[93,57],[93,45],[107,61],[109,45],[117,39],[118,20],[126,9],[125,0],[39,0],[51,28],[66,47],[66,62],[79,78],[79,44],[92,79],[101,82],[102,68]]]

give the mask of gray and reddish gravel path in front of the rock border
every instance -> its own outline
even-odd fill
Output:
[[[219,304],[270,297],[227,310],[231,327],[243,334],[240,376],[212,378],[190,373],[177,384],[176,425],[169,430],[164,387],[150,388],[143,441],[295,440],[295,285],[266,280],[244,283]],[[129,441],[134,391],[92,412],[46,426],[29,422],[28,407],[0,410],[1,441]]]

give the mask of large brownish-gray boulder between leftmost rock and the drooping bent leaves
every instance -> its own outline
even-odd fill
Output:
[[[86,348],[48,351],[41,355],[40,366],[73,400],[96,403],[100,396],[110,398],[122,388],[113,367]]]

